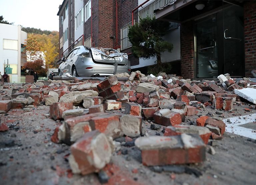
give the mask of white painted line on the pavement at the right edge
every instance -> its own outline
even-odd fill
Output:
[[[228,122],[228,120],[230,120],[230,122]],[[254,129],[239,126],[246,123],[256,122],[256,114],[227,118],[223,119],[223,122],[226,124],[226,132],[256,139],[256,132]]]

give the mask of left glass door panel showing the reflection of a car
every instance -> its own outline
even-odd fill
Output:
[[[215,14],[196,24],[197,78],[218,76],[217,21]]]

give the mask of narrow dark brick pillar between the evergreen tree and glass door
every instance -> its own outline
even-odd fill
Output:
[[[181,75],[194,79],[194,35],[193,21],[181,24],[180,27]]]

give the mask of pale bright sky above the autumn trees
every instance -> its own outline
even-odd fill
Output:
[[[59,5],[63,0],[0,0],[0,16],[14,25],[59,31]]]

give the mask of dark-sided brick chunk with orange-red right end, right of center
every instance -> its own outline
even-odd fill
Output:
[[[156,123],[164,126],[177,125],[182,122],[181,115],[170,109],[160,109],[155,112],[153,118]]]

